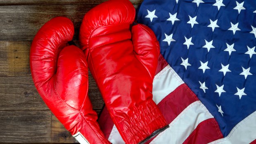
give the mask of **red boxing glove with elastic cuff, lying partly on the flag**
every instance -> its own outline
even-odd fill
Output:
[[[126,144],[144,143],[168,128],[152,100],[159,43],[147,26],[132,26],[134,19],[129,0],[109,0],[85,14],[79,34],[90,72]]]

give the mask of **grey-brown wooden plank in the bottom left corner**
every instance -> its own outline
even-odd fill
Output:
[[[0,111],[0,143],[50,143],[51,111]]]

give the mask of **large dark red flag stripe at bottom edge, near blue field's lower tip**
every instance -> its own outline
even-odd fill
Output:
[[[207,144],[222,138],[223,135],[216,119],[210,118],[199,123],[183,144]]]

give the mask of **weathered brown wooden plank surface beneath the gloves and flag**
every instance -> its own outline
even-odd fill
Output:
[[[38,95],[31,78],[33,37],[53,17],[75,26],[74,42],[88,10],[105,0],[0,0],[0,143],[76,143]],[[135,8],[142,0],[130,0]],[[89,96],[99,114],[104,102],[89,74]]]

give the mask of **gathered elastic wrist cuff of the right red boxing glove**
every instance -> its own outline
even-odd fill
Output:
[[[153,100],[147,100],[140,105],[133,116],[119,121],[119,129],[127,144],[142,144],[166,129],[166,120]]]

